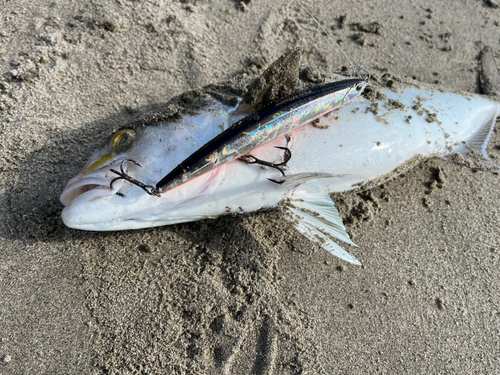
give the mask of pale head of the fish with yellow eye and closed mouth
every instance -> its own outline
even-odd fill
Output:
[[[207,198],[224,167],[161,194],[149,195],[120,174],[152,188],[187,156],[229,126],[229,117],[214,104],[210,116],[186,116],[179,122],[114,133],[63,190],[64,223],[84,230],[121,230],[173,224],[204,218],[195,202]],[[199,207],[199,206],[198,206]],[[213,213],[214,215],[217,213]],[[201,217],[200,217],[201,215]]]

